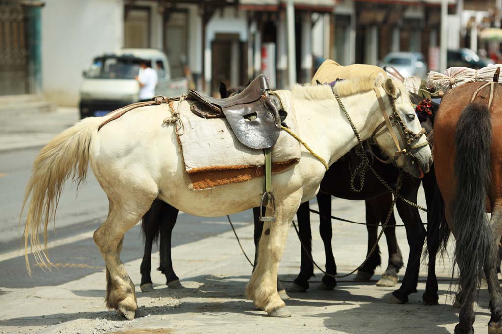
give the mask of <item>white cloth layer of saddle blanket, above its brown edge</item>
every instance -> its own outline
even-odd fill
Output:
[[[291,104],[291,92],[276,91],[288,113],[285,123],[298,133],[296,115]],[[180,117],[185,131],[179,136],[183,151],[185,170],[191,173],[211,170],[228,170],[263,166],[263,150],[256,150],[241,144],[225,118],[204,119],[190,111],[187,102],[180,106]],[[300,159],[300,144],[286,131],[272,147],[272,162],[290,162]]]

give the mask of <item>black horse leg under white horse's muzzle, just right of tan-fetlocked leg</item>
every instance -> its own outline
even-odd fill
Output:
[[[418,184],[416,187],[405,192],[405,194],[407,194],[405,197],[416,203],[417,192]],[[399,289],[392,293],[389,302],[403,304],[408,302],[409,294],[417,292],[420,256],[422,254],[422,247],[424,246],[425,228],[424,225],[422,225],[422,219],[420,219],[417,208],[401,200],[396,201],[396,208],[405,223],[406,237],[410,245],[410,255],[408,257],[408,266],[403,282]]]

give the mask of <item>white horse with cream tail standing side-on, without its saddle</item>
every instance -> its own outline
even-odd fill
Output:
[[[384,82],[385,81],[385,82]],[[373,87],[383,96],[381,111]],[[421,129],[408,93],[401,83],[357,78],[330,86],[294,87],[292,101],[298,120],[297,135],[329,165],[357,144],[354,132],[342,113],[333,92],[341,97],[361,139],[368,139],[383,122],[383,112],[391,113],[393,104],[408,130]],[[395,100],[396,99],[396,100]],[[395,100],[395,101],[394,101]],[[394,101],[394,102],[392,102]],[[187,104],[186,101],[181,102]],[[185,108],[188,106],[181,106]],[[176,103],[174,109],[176,110]],[[225,185],[209,190],[188,189],[188,176],[172,125],[163,124],[166,105],[134,109],[97,131],[104,118],[87,118],[65,130],[39,153],[26,189],[23,207],[28,204],[25,226],[25,250],[28,270],[28,243],[41,264],[48,262],[46,249],[40,246],[39,232],[55,219],[59,196],[65,181],[72,177],[84,181],[90,161],[92,171],[109,200],[105,222],[94,232],[94,241],[106,263],[106,303],[133,319],[137,309],[135,285],[120,261],[124,233],[132,228],[156,198],[198,216],[222,216],[260,204],[263,179]],[[210,121],[208,121],[210,122]],[[394,126],[395,131],[403,131]],[[389,131],[375,140],[389,156],[396,148]],[[418,143],[426,143],[425,136]],[[400,139],[401,147],[404,147]],[[401,156],[397,165],[414,175],[428,172],[432,163],[428,145],[414,150],[414,164]],[[246,295],[271,316],[290,316],[277,292],[277,274],[290,222],[302,202],[313,198],[325,168],[307,150],[294,167],[273,177],[276,221],[264,223],[260,239],[258,265],[246,286]],[[270,209],[269,209],[270,211]]]

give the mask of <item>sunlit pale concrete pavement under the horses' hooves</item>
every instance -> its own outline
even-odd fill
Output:
[[[333,200],[336,214],[356,220],[363,218],[360,205],[360,202]],[[312,218],[314,257],[323,263],[323,247],[317,232],[318,219],[314,215]],[[251,219],[250,215],[248,219]],[[226,224],[224,219],[220,223]],[[348,272],[364,258],[365,229],[341,222],[334,222],[333,225],[333,248],[338,272]],[[253,227],[246,225],[237,232],[245,251],[253,257]],[[173,238],[176,237],[175,233]],[[408,247],[403,228],[398,229],[398,238],[406,259]],[[383,242],[385,238],[382,245]],[[126,238],[122,257],[131,255],[127,255],[127,244]],[[383,263],[387,263],[387,254],[382,255]],[[409,304],[394,305],[388,304],[387,299],[395,288],[377,287],[374,285],[376,279],[368,283],[355,283],[349,277],[340,280],[334,291],[320,291],[315,289],[315,282],[321,277],[318,274],[311,279],[313,283],[308,292],[291,294],[292,298],[286,300],[293,316],[279,319],[266,316],[265,312],[256,309],[250,300],[243,297],[251,268],[240,253],[231,231],[174,247],[175,270],[185,285],[182,289],[167,288],[163,284],[165,278],[155,271],[152,278],[156,290],[139,292],[141,253],[133,256],[136,259],[127,261],[126,268],[137,284],[140,312],[135,320],[125,321],[114,311],[105,310],[105,278],[104,270],[100,270],[62,284],[2,287],[0,330],[39,333],[97,333],[118,329],[133,329],[132,332],[149,329],[146,332],[151,333],[296,333],[329,330],[335,333],[425,334],[452,332],[458,319],[458,310],[452,309],[451,298],[446,298],[450,277],[448,264],[445,267],[438,265],[441,305],[421,304],[425,276],[421,276],[419,291],[410,297]],[[101,259],[97,261],[103,265]],[[291,281],[298,272],[299,262],[300,244],[291,229],[281,262],[281,279]],[[154,254],[153,263],[158,263],[158,253]],[[425,266],[421,272],[426,273]],[[50,275],[57,280],[58,274],[58,270],[55,270]],[[37,275],[32,279],[36,281]],[[486,290],[481,291],[476,315],[475,330],[484,332],[489,319]],[[163,329],[153,331],[153,328]]]

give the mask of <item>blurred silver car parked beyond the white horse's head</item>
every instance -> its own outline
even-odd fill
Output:
[[[424,56],[419,52],[392,52],[384,57],[380,66],[382,68],[391,66],[405,78],[411,76],[425,78],[427,75]]]

